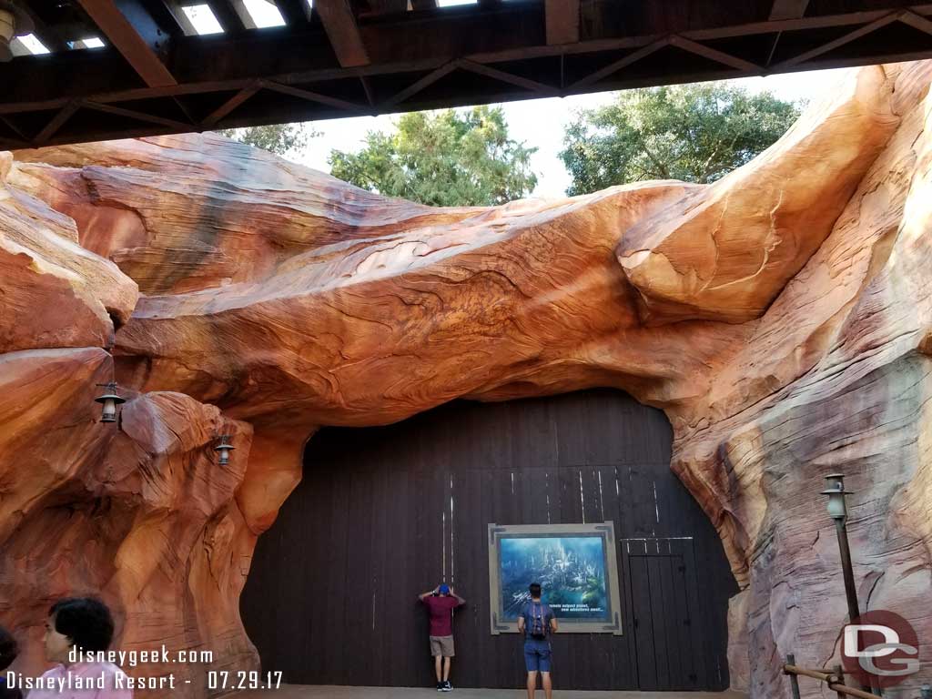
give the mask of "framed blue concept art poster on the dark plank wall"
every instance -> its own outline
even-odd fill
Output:
[[[560,633],[622,635],[618,564],[612,522],[488,526],[488,589],[493,634],[517,632],[541,583]]]

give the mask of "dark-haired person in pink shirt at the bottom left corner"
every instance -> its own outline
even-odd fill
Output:
[[[46,659],[56,663],[41,678],[27,699],[132,699],[129,681],[117,665],[82,654],[110,648],[114,620],[110,610],[94,597],[67,597],[48,610]],[[92,684],[93,683],[93,684]]]

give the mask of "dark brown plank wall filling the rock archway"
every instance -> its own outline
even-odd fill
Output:
[[[320,432],[241,598],[263,669],[298,684],[432,686],[416,596],[445,581],[468,602],[454,685],[521,687],[521,640],[489,632],[487,524],[611,519],[624,636],[555,637],[555,687],[727,688],[736,587],[670,447],[663,413],[601,390]]]

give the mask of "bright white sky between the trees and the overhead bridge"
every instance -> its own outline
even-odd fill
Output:
[[[810,71],[747,77],[731,81],[746,89],[759,92],[770,90],[782,100],[797,102],[813,100],[825,93],[839,80],[843,70]],[[598,92],[589,95],[552,97],[541,100],[526,100],[502,105],[508,121],[508,132],[516,141],[536,147],[531,158],[531,169],[538,176],[535,197],[562,197],[570,183],[569,173],[558,154],[563,148],[563,134],[580,109],[589,109],[610,103],[614,92]],[[333,148],[356,151],[363,147],[365,134],[369,130],[391,131],[392,115],[379,117],[351,117],[313,122],[314,130],[322,135],[310,139],[299,153],[289,157],[310,168],[330,171],[327,157]]]

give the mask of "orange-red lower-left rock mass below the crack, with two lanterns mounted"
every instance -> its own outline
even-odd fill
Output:
[[[239,596],[254,536],[234,497],[243,486],[249,425],[181,393],[133,397],[120,425],[100,423],[94,384],[112,376],[103,349],[32,349],[0,355],[0,618],[23,643],[18,669],[46,667],[51,603],[103,597],[117,612],[126,651],[221,651],[212,669],[254,665]],[[214,461],[214,434],[233,435],[242,457]],[[204,687],[209,665],[173,671]]]

